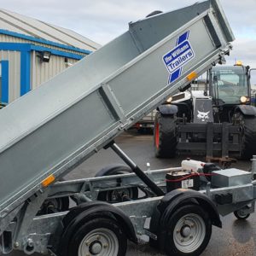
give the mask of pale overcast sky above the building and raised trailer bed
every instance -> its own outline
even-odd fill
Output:
[[[196,0],[0,0],[0,8],[67,27],[106,44],[154,10],[169,11]],[[229,63],[256,67],[256,0],[220,0],[235,33]],[[255,73],[256,76],[256,73]]]

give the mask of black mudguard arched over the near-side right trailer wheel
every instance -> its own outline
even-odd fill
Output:
[[[191,189],[175,189],[172,192],[167,193],[154,210],[149,229],[150,232],[157,235],[158,242],[151,242],[153,246],[156,245],[161,249],[164,248],[166,232],[168,231],[166,229],[168,219],[179,207],[189,204],[195,204],[202,207],[206,212],[208,212],[212,224],[219,228],[222,227],[217,207],[215,207],[207,195],[203,195]]]

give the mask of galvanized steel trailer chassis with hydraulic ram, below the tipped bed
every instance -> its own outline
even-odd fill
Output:
[[[116,144],[112,143],[110,146],[126,163],[137,167],[127,156],[124,156],[122,151],[119,151]],[[135,173],[54,183],[44,191],[39,190],[29,200],[20,203],[15,210],[2,216],[0,224],[1,253],[7,254],[16,249],[26,254],[37,252],[63,255],[63,250],[67,246],[62,242],[65,243],[66,241],[63,234],[67,231],[67,226],[73,218],[78,218],[79,214],[84,214],[84,218],[89,215],[98,218],[98,212],[107,215],[111,212],[119,222],[120,229],[126,229],[125,235],[128,239],[137,243],[145,243],[149,240],[151,244],[157,242],[160,250],[164,250],[168,254],[165,244],[159,241],[164,238],[161,237],[159,230],[155,230],[160,218],[164,218],[162,213],[160,217],[156,214],[157,212],[158,214],[159,212],[165,212],[168,218],[172,218],[171,216],[184,207],[184,204],[194,205],[198,203],[198,207],[202,211],[208,212],[210,210],[212,212],[211,214],[209,212],[207,216],[211,224],[218,227],[221,227],[218,214],[225,216],[231,212],[236,212],[237,218],[247,218],[250,213],[254,212],[256,181],[215,189],[212,189],[211,183],[206,182],[199,191],[176,189],[166,193],[166,173],[179,171],[181,171],[181,167],[154,171],[148,168],[147,172],[143,172],[143,175],[147,176],[164,193],[160,196],[155,195],[156,193],[148,188],[148,185]],[[253,173],[256,173],[256,157],[253,157],[252,176]],[[132,187],[141,189],[146,196],[134,201],[122,201],[113,204],[97,201],[98,195],[102,191],[122,190]],[[224,201],[219,201],[219,197],[224,198]],[[63,198],[69,198],[69,201],[71,201],[70,209],[38,215],[44,201],[55,201]],[[226,201],[227,198],[228,201]],[[80,209],[79,213],[76,212],[78,208]],[[84,212],[89,212],[88,216]],[[60,251],[60,247],[62,251]],[[179,254],[177,253],[177,255]]]

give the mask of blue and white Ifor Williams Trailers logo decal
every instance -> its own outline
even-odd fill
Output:
[[[176,47],[163,56],[163,61],[170,73],[168,84],[171,84],[181,76],[183,66],[194,57],[195,53],[189,44],[189,31],[187,31],[177,38]]]

